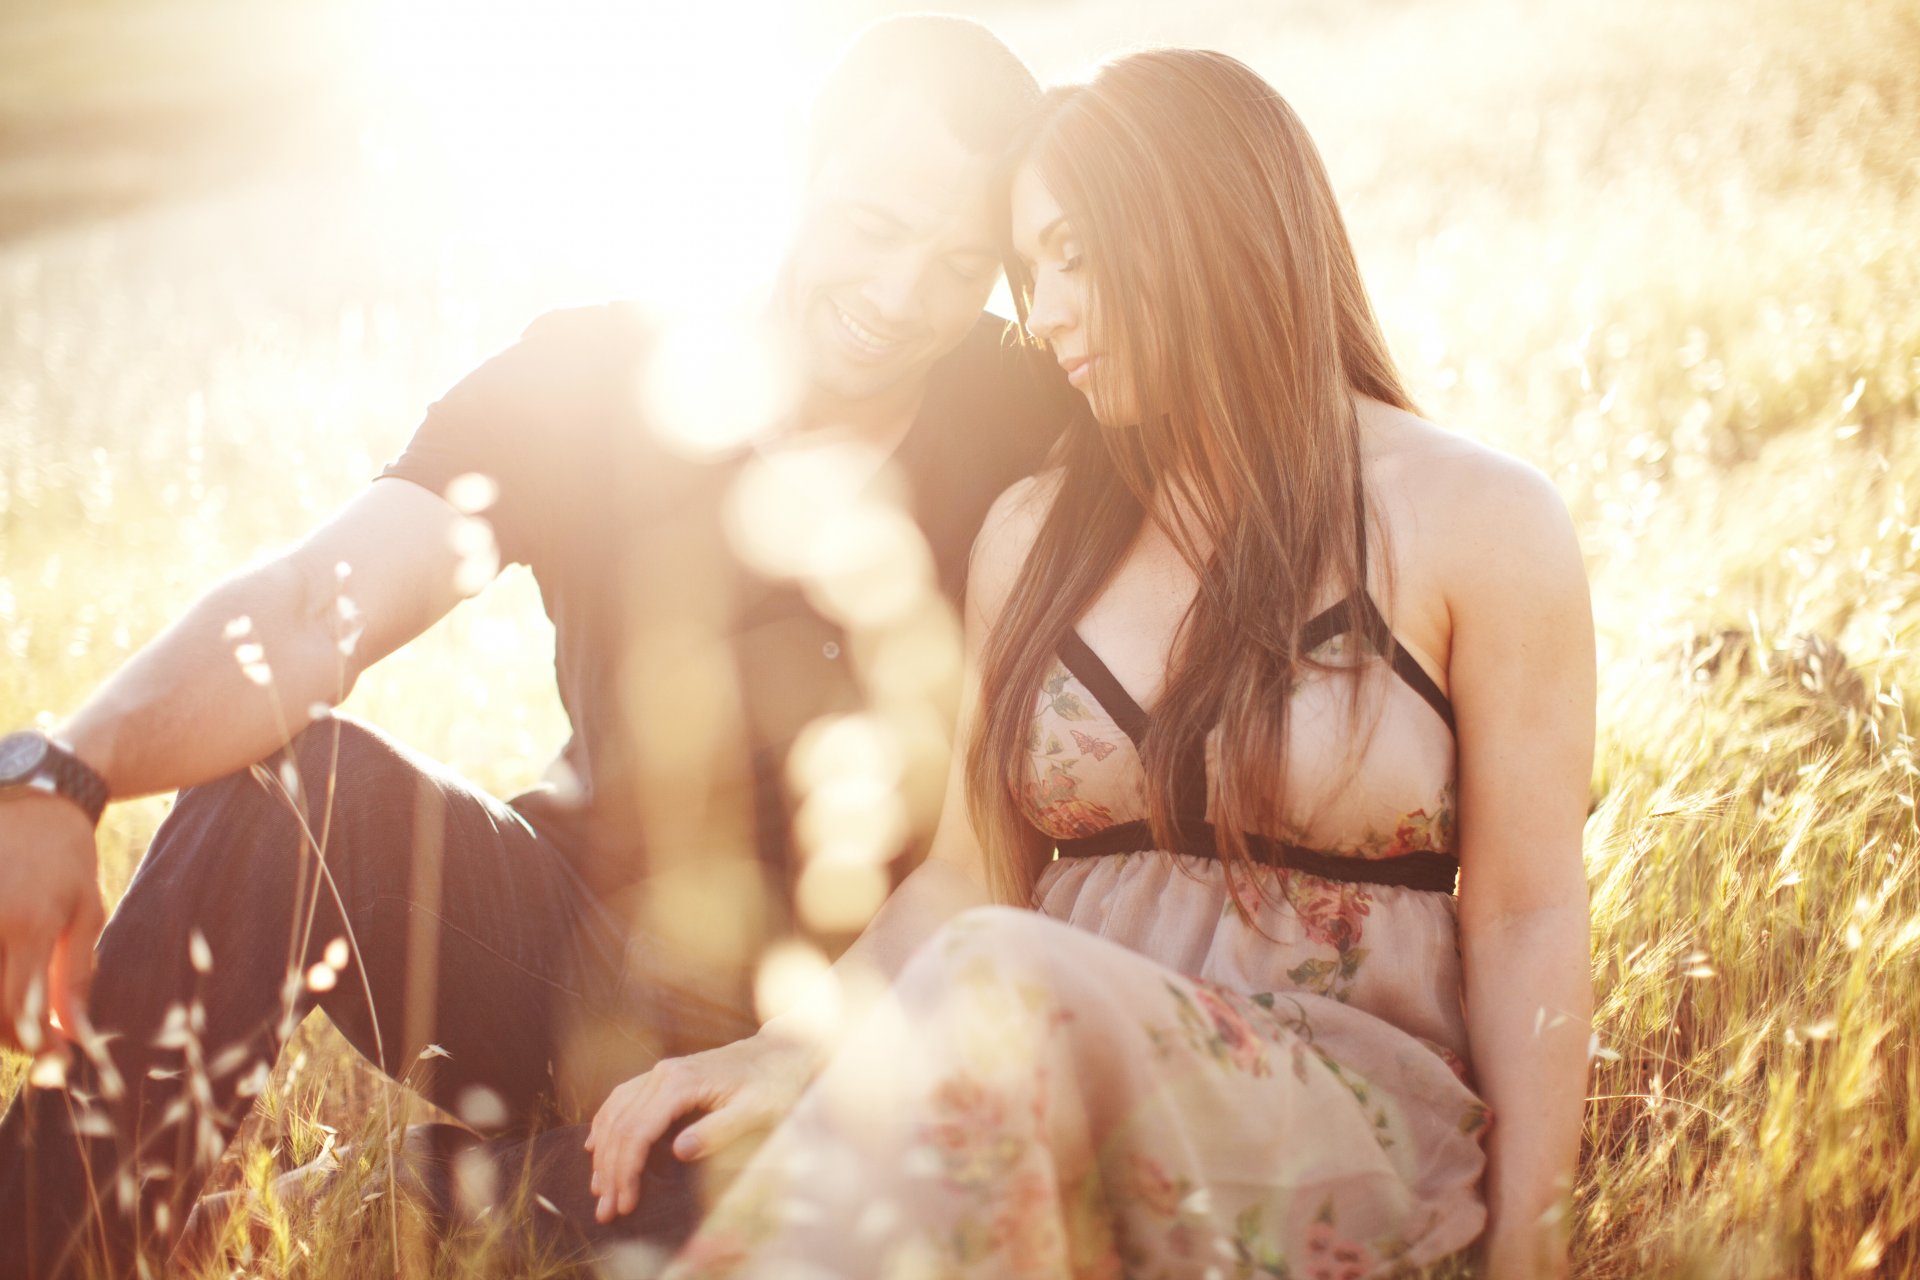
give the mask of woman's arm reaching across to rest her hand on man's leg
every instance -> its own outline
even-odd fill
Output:
[[[858,1011],[862,992],[883,990],[941,925],[991,900],[985,854],[966,804],[966,747],[979,697],[979,654],[1044,514],[1043,484],[1023,480],[1002,493],[973,543],[966,676],[947,796],[925,862],[881,904],[810,1000],[745,1040],[668,1057],[612,1090],[586,1140],[601,1222],[636,1209],[647,1151],[678,1117],[707,1111],[674,1138],[674,1155],[701,1159],[785,1115],[831,1054],[833,1031]]]

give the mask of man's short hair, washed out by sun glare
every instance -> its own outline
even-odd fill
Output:
[[[979,155],[1006,152],[1041,102],[1027,65],[979,23],[945,13],[889,17],[854,36],[820,86],[808,167],[902,90],[933,104],[954,138]]]

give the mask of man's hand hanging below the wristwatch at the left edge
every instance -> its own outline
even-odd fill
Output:
[[[106,923],[86,816],[61,796],[0,798],[0,1044],[60,1052],[77,1034]]]

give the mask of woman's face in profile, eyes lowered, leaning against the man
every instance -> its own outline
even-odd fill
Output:
[[[1033,278],[1027,332],[1044,342],[1068,382],[1087,397],[1102,426],[1139,422],[1129,380],[1112,351],[1094,342],[1092,278],[1079,232],[1060,211],[1033,165],[1014,175],[1014,251]]]

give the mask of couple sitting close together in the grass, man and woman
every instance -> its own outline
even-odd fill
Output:
[[[536,1205],[620,1274],[1565,1270],[1594,651],[1551,487],[1415,413],[1311,140],[1233,58],[1043,94],[897,19],[812,148],[776,430],[678,451],[651,324],[543,317],[0,743],[0,1021],[40,1055],[0,1270],[163,1263],[315,1006],[465,1119],[411,1144],[447,1230]],[[770,510],[795,474],[845,501]],[[574,727],[568,785],[509,802],[328,714],[482,585],[474,510]],[[852,570],[768,568],[768,528],[847,510]],[[801,802],[835,733],[910,789],[887,725],[927,670],[927,821]],[[173,789],[102,929],[100,808]],[[852,936],[879,844],[914,865]],[[756,1013],[804,946],[831,971]]]

